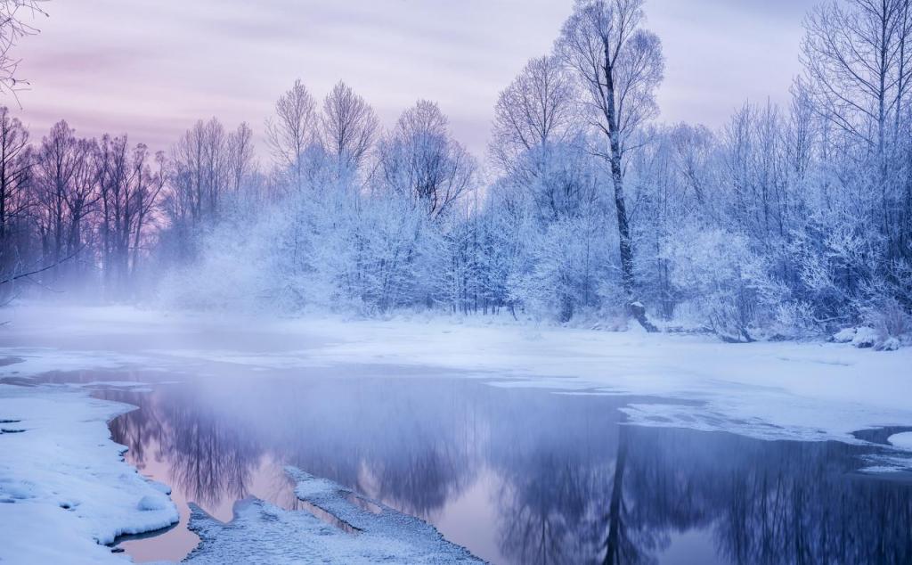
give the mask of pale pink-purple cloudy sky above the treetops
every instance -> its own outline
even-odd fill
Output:
[[[746,99],[787,99],[802,19],[817,0],[648,0],[666,80],[661,120],[722,125]],[[498,92],[548,52],[572,0],[51,0],[16,56],[32,89],[18,115],[40,138],[128,132],[166,148],[199,118],[259,133],[302,78],[344,79],[384,124],[433,99],[482,156]],[[15,106],[12,100],[6,104]]]

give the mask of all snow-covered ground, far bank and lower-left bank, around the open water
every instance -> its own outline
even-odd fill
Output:
[[[638,424],[764,439],[856,443],[860,440],[851,434],[856,430],[912,425],[912,349],[878,352],[821,342],[733,345],[710,337],[485,318],[242,319],[23,306],[3,310],[0,321],[8,321],[0,328],[0,358],[16,358],[0,366],[0,377],[139,365],[243,371],[255,378],[263,371],[358,365],[416,378],[447,371],[499,386],[700,401],[637,403],[627,413]],[[0,387],[0,419],[18,420],[16,429],[26,430],[0,435],[5,455],[0,520],[13,524],[0,531],[5,542],[0,557],[16,562],[16,556],[26,555],[22,551],[40,548],[59,552],[47,557],[79,555],[101,562],[111,556],[94,539],[106,542],[119,531],[176,519],[170,503],[140,510],[155,506],[140,499],[161,493],[121,462],[118,446],[107,439],[106,420],[123,409],[78,390]],[[894,444],[912,451],[905,437]],[[891,457],[890,466],[907,461]],[[3,504],[7,499],[14,502]],[[272,511],[249,507],[241,513],[254,517],[267,510]]]

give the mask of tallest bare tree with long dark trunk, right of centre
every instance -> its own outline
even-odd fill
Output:
[[[611,168],[622,284],[631,304],[636,285],[623,160],[631,133],[658,112],[655,89],[664,70],[661,44],[641,28],[644,18],[643,0],[576,0],[555,46],[586,86],[592,123],[607,141],[595,152]]]

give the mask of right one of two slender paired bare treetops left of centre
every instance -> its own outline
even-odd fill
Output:
[[[342,81],[323,102],[321,125],[326,151],[336,158],[339,173],[361,166],[379,129],[374,110]]]

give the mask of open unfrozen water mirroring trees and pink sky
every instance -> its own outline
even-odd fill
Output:
[[[114,439],[181,507],[178,528],[124,543],[138,560],[195,546],[188,500],[222,520],[249,496],[300,507],[282,472],[294,465],[494,562],[912,562],[912,486],[855,475],[858,446],[623,426],[630,399],[457,379],[222,378],[98,394],[140,405],[111,425]]]

